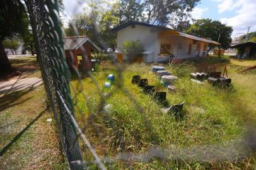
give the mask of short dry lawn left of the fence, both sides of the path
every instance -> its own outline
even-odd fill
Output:
[[[20,78],[40,76],[35,57],[10,61],[13,67],[23,72]],[[0,151],[14,141],[0,157],[0,169],[67,169],[57,128],[54,122],[46,121],[54,116],[51,111],[45,111],[45,96],[44,86],[0,96]],[[40,113],[42,116],[15,139]]]

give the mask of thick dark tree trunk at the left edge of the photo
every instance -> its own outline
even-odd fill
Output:
[[[0,40],[0,74],[11,71],[11,64],[4,51],[3,40]]]

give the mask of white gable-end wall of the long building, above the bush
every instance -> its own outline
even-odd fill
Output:
[[[148,26],[135,25],[117,31],[117,48],[120,50],[122,43],[125,41],[140,40],[144,45],[144,50],[153,52],[156,55],[158,47],[158,31]]]

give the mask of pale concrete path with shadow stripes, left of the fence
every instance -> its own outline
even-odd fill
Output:
[[[0,82],[0,94],[10,91],[20,91],[28,88],[35,88],[43,84],[41,77],[32,77],[24,79],[11,79]]]

